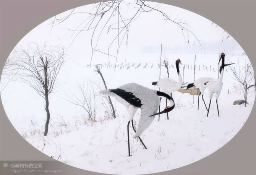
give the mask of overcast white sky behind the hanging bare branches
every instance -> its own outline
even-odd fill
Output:
[[[127,1],[128,3],[133,3],[134,1]],[[157,3],[152,3],[154,4]],[[132,6],[132,5],[131,5]],[[68,29],[75,30],[76,27],[81,24],[81,22],[86,19],[88,14],[81,14],[80,12],[88,12],[90,11],[94,5],[81,6],[75,9],[73,13],[78,13],[70,16],[64,22],[59,25],[55,25],[51,30],[51,22],[55,18],[51,18],[42,24],[38,25],[35,29],[29,32],[18,45],[23,46],[24,43],[30,43],[31,41],[42,44],[44,42],[50,44],[62,44],[65,48],[68,49],[70,56],[74,60],[88,61],[88,58],[91,57],[91,34],[92,31],[84,31],[81,32],[78,37],[73,41],[76,32],[73,33]],[[133,8],[127,8],[124,4],[121,6],[124,17],[129,17],[134,13],[135,10]],[[238,43],[230,37],[228,40],[222,41],[224,36],[224,31],[221,28],[215,28],[215,25],[212,25],[212,22],[207,20],[206,18],[199,16],[198,14],[192,13],[190,11],[162,4],[160,7],[165,13],[170,15],[170,19],[176,19],[183,22],[187,22],[190,29],[196,37],[201,41],[204,49],[201,49],[199,43],[195,40],[193,35],[190,34],[190,43],[188,44],[188,37],[186,36],[186,40],[183,37],[183,34],[180,28],[170,22],[164,20],[161,14],[156,11],[152,11],[149,13],[141,13],[138,18],[134,19],[128,38],[128,55],[130,53],[130,57],[128,59],[133,59],[136,57],[136,54],[139,52],[159,52],[160,45],[162,43],[164,52],[192,52],[192,53],[219,53],[223,52],[242,52],[241,47]],[[66,11],[60,15],[57,15],[55,19],[59,19],[60,16],[64,17],[70,14],[72,10]],[[104,19],[105,18],[105,19]],[[117,15],[115,18],[110,20],[110,22],[117,22]],[[103,20],[107,20],[107,16],[103,16]],[[102,24],[102,23],[100,23]],[[81,25],[83,26],[83,25]],[[79,29],[81,29],[81,26]],[[114,26],[113,26],[114,27]],[[102,32],[102,40],[99,41],[99,45],[97,49],[101,51],[107,52],[107,46],[109,46],[109,41],[113,36],[115,36],[117,30],[110,30],[109,33],[104,30]],[[95,40],[94,40],[95,41]],[[117,45],[116,43],[114,45]],[[121,50],[119,51],[118,58],[121,60],[125,57],[124,52],[125,45],[122,45]],[[115,55],[116,47],[113,47],[110,52]],[[107,58],[104,54],[95,54],[94,58]],[[113,58],[113,60],[115,60]]]

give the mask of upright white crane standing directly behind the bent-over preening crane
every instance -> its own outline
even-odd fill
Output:
[[[175,92],[178,89],[180,89],[183,82],[182,82],[182,78],[181,78],[181,74],[180,74],[179,64],[181,64],[180,59],[177,59],[175,61],[175,65],[176,65],[176,69],[177,69],[177,73],[178,73],[178,82],[171,78],[164,78],[162,80],[152,82],[152,85],[159,86],[160,91],[162,91],[166,94],[171,94],[172,92]],[[160,102],[161,102],[161,99],[162,98],[160,97]],[[165,103],[167,106],[167,99],[165,100]],[[160,110],[160,104],[159,104],[159,110]],[[167,119],[169,119],[168,113],[167,113]],[[158,118],[158,121],[159,121],[159,118]]]

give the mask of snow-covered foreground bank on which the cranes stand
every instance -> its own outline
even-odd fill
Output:
[[[167,120],[164,114],[158,122],[156,117],[141,135],[147,149],[132,137],[130,126],[131,157],[128,157],[125,111],[116,119],[97,122],[67,134],[26,140],[54,159],[81,169],[111,174],[162,172],[191,164],[224,146],[246,122],[254,101],[251,98],[246,108],[232,105],[237,99],[236,93],[223,93],[219,99],[220,117],[212,103],[206,118],[207,111],[201,100],[197,111],[192,95],[181,92],[174,95],[177,103],[169,113],[170,119]],[[139,113],[138,110],[134,121],[138,122]]]

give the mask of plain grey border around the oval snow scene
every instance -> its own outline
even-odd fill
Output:
[[[97,0],[99,1],[99,0]],[[77,6],[96,0],[0,0],[0,70],[21,38],[41,22]],[[190,10],[226,30],[245,50],[254,72],[256,65],[255,0],[154,0]],[[256,174],[256,105],[248,121],[235,137],[215,153],[198,162],[157,175],[255,175]],[[216,126],[218,127],[218,126]],[[8,120],[0,105],[0,161],[45,161],[50,170],[62,174],[97,174],[77,169],[42,154],[24,140]],[[47,161],[48,160],[48,161]],[[50,160],[50,161],[49,161]],[[0,165],[0,169],[2,164]],[[55,173],[56,174],[56,173]]]

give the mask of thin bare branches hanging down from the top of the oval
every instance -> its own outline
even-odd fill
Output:
[[[131,13],[127,13],[127,11]],[[137,1],[124,1],[124,0],[112,0],[107,2],[99,2],[95,3],[93,8],[88,11],[79,11],[74,8],[69,14],[66,16],[55,16],[51,25],[52,27],[58,25],[60,23],[65,22],[67,19],[72,18],[76,15],[86,15],[82,22],[77,25],[74,29],[68,28],[75,34],[73,41],[79,35],[79,33],[84,31],[92,31],[91,35],[91,61],[94,52],[100,52],[102,54],[106,54],[109,58],[118,57],[118,52],[121,48],[122,43],[125,43],[125,51],[127,50],[128,45],[128,34],[131,27],[132,22],[138,18],[142,13],[156,13],[159,16],[162,16],[162,19],[165,22],[171,22],[177,27],[180,28],[181,33],[184,37],[184,40],[187,44],[190,42],[190,36],[193,37],[194,40],[198,41],[201,49],[203,46],[199,39],[194,35],[194,33],[189,29],[189,25],[186,22],[181,21],[177,18],[177,16],[170,17],[171,13],[169,11],[165,12],[165,5],[160,3],[152,3],[143,0]],[[98,48],[98,43],[103,33],[111,33],[114,31],[115,34],[113,38],[110,39],[110,43],[107,45],[107,48]],[[113,32],[112,32],[113,33]],[[72,41],[72,43],[73,43]],[[71,43],[71,44],[72,44]],[[110,48],[117,48],[115,53],[110,53]],[[126,59],[126,55],[125,55]]]

